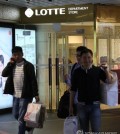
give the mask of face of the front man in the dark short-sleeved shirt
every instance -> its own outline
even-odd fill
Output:
[[[90,53],[85,53],[81,56],[81,64],[89,67],[93,63],[93,56]]]

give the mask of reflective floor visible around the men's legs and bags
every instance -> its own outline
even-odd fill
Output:
[[[34,134],[63,134],[63,124],[64,120],[58,119],[56,113],[49,113],[44,128],[35,129]],[[17,134],[17,126],[11,113],[0,115],[0,134]],[[102,110],[101,131],[111,132],[103,134],[120,134],[120,108]]]

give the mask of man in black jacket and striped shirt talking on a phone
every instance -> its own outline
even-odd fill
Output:
[[[4,94],[11,94],[13,98],[13,115],[19,122],[18,134],[25,134],[26,128],[24,115],[28,103],[35,97],[39,101],[38,86],[34,66],[23,58],[22,48],[16,46],[12,49],[12,58],[2,72],[3,77],[8,77]],[[32,133],[31,133],[32,134]]]

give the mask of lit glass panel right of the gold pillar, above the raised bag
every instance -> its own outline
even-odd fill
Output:
[[[119,69],[119,23],[97,24],[98,62],[104,59],[111,69]]]

